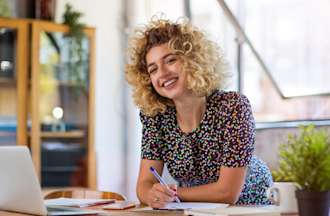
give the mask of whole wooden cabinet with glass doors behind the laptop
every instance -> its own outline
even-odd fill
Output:
[[[2,39],[8,31],[11,39]],[[12,64],[0,73],[0,144],[29,146],[43,186],[95,188],[95,29],[84,29],[81,46],[68,32],[0,19],[0,61]]]

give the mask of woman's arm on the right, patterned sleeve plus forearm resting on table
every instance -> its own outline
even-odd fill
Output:
[[[227,116],[219,126],[223,135],[221,145],[220,178],[217,182],[191,188],[179,188],[184,201],[236,203],[243,189],[246,167],[253,153],[255,124],[250,103],[244,95],[231,92],[225,95]],[[219,113],[219,116],[222,114]],[[219,152],[220,154],[220,152]]]

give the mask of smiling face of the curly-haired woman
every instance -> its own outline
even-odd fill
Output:
[[[158,94],[177,100],[188,93],[182,59],[168,48],[167,43],[151,48],[146,61],[151,83]]]

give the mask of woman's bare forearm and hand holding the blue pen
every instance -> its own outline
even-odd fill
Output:
[[[153,208],[161,208],[166,203],[174,200],[176,186],[170,185],[170,188],[173,190],[169,190],[159,184],[150,172],[151,166],[161,174],[163,172],[164,162],[148,159],[141,160],[136,192],[141,203]]]

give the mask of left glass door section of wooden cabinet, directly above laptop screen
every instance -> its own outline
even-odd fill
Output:
[[[0,19],[0,145],[27,145],[28,25]]]

